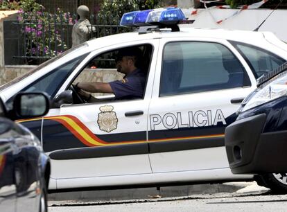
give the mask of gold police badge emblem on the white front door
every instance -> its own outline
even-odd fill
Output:
[[[114,107],[111,105],[100,107],[101,113],[98,114],[98,126],[100,127],[100,130],[105,132],[116,130],[118,118],[116,117],[116,112],[112,111],[113,109]]]

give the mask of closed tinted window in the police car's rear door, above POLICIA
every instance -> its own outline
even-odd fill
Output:
[[[159,96],[250,86],[241,62],[222,44],[170,42],[164,47]]]

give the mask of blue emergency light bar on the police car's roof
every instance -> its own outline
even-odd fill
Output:
[[[154,10],[143,10],[127,12],[121,18],[121,26],[167,26],[174,25],[186,20],[180,8],[159,8]]]

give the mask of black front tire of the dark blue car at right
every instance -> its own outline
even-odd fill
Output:
[[[275,193],[287,193],[287,173],[268,173],[255,177],[259,186],[270,188]]]

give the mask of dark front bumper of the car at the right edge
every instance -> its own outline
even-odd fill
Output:
[[[263,133],[266,116],[243,118],[226,128],[225,146],[232,173],[287,172],[287,130]]]

